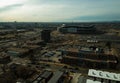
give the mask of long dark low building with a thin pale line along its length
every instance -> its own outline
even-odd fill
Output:
[[[62,63],[88,68],[115,69],[118,60],[114,55],[104,53],[81,52],[79,50],[64,51]]]

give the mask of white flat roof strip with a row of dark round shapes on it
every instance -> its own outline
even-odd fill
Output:
[[[103,78],[108,80],[120,81],[120,73],[112,73],[108,71],[101,71],[95,69],[89,69],[88,76]]]

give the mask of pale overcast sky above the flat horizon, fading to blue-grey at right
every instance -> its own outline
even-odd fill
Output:
[[[0,0],[0,21],[120,21],[120,0]]]

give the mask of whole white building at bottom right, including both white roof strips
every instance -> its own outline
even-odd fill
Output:
[[[120,74],[89,69],[86,83],[120,83]]]

